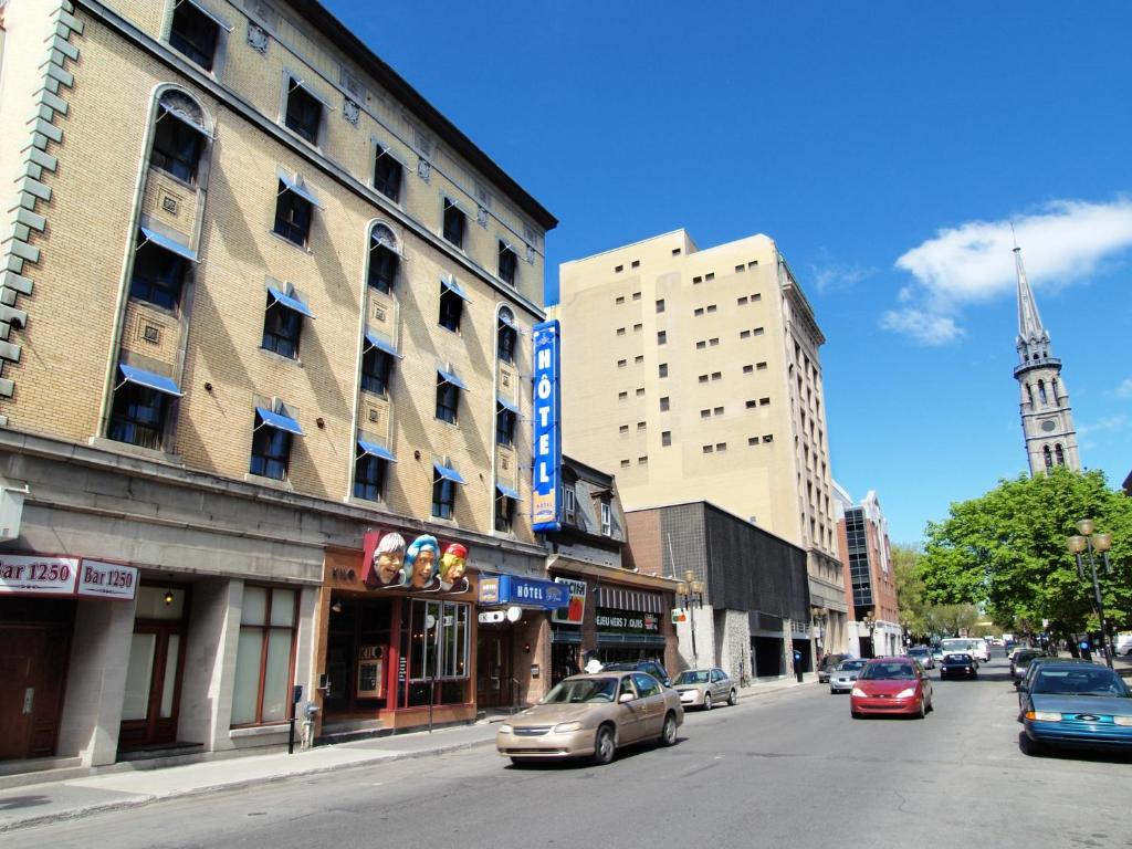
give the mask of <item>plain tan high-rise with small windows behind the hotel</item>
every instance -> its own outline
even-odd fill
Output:
[[[844,644],[814,311],[774,241],[684,230],[560,268],[563,440],[628,509],[709,499],[807,551],[815,635]]]

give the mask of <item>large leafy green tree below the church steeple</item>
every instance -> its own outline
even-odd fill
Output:
[[[1099,627],[1092,611],[1088,556],[1078,577],[1065,539],[1075,522],[1092,518],[1113,534],[1113,574],[1097,555],[1097,577],[1112,629],[1132,621],[1132,499],[1113,491],[1099,471],[1055,469],[1036,478],[1004,480],[980,498],[951,505],[951,516],[929,522],[917,569],[929,603],[978,604],[1013,631],[1070,634]]]

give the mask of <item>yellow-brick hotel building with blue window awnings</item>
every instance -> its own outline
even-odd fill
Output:
[[[0,2],[0,760],[525,698],[555,218],[315,0]]]

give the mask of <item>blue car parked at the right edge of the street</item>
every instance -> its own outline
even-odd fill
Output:
[[[1112,669],[1046,661],[1019,698],[1028,755],[1049,746],[1132,752],[1132,693]]]

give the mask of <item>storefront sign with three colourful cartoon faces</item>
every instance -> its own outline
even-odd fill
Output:
[[[440,554],[436,537],[422,534],[408,546],[396,531],[362,537],[361,581],[370,590],[468,592],[468,548],[449,542]]]

